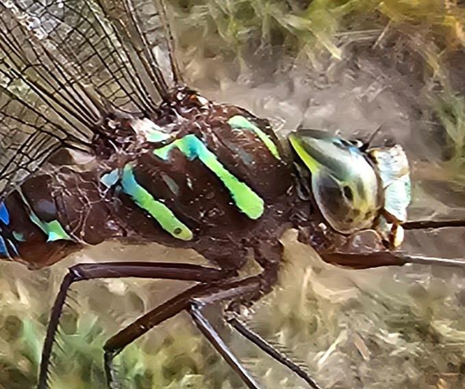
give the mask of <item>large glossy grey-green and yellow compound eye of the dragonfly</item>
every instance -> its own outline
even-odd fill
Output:
[[[314,129],[289,140],[312,174],[313,196],[327,223],[342,234],[372,228],[383,205],[381,185],[357,145]]]

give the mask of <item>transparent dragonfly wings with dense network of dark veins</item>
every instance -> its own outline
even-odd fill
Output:
[[[0,0],[0,197],[112,111],[150,114],[179,80],[156,0]]]

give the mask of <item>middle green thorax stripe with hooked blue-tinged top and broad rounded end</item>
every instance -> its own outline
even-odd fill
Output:
[[[240,211],[244,212],[249,218],[257,219],[264,212],[264,201],[256,194],[247,184],[239,181],[237,177],[229,173],[225,166],[218,161],[216,155],[210,151],[197,136],[190,134],[184,138],[177,139],[174,142],[155,149],[153,153],[163,160],[168,160],[169,153],[174,148],[179,149],[187,158],[193,160],[199,158],[226,186],[231,193],[231,197]]]

